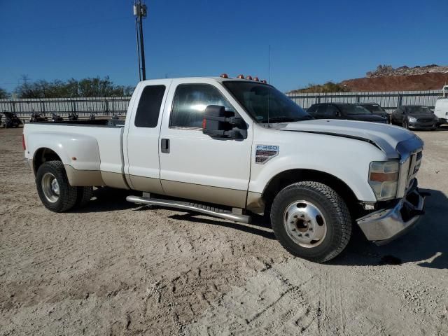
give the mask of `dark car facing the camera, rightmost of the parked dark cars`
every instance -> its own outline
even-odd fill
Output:
[[[403,105],[393,111],[391,123],[407,129],[435,130],[439,118],[428,106]]]

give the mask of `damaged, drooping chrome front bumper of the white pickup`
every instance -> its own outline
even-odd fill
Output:
[[[356,222],[368,240],[377,245],[387,244],[410,230],[423,215],[424,196],[417,188],[390,209],[372,212]]]

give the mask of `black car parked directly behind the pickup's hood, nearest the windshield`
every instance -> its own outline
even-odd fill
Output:
[[[320,103],[311,105],[307,112],[316,119],[346,119],[388,123],[386,118],[373,114],[359,104]]]

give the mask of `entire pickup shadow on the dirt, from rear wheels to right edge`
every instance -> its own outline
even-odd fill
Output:
[[[423,189],[430,193],[425,201],[425,215],[413,230],[384,246],[376,246],[365,239],[357,225],[353,227],[353,236],[342,255],[327,265],[400,265],[405,262],[418,262],[417,265],[428,268],[448,269],[448,199],[439,190]],[[125,200],[135,192],[113,188],[94,190],[94,199],[87,207],[73,212],[89,213],[117,211],[125,209],[148,210],[160,207],[142,207]],[[169,218],[192,223],[217,225],[232,228],[267,239],[276,239],[270,223],[262,216],[253,216],[250,225],[233,223],[218,218],[204,218],[190,212],[173,214]]]

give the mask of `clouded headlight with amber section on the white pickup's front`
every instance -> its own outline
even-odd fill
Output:
[[[391,200],[397,195],[398,161],[370,162],[369,184],[377,200]]]

